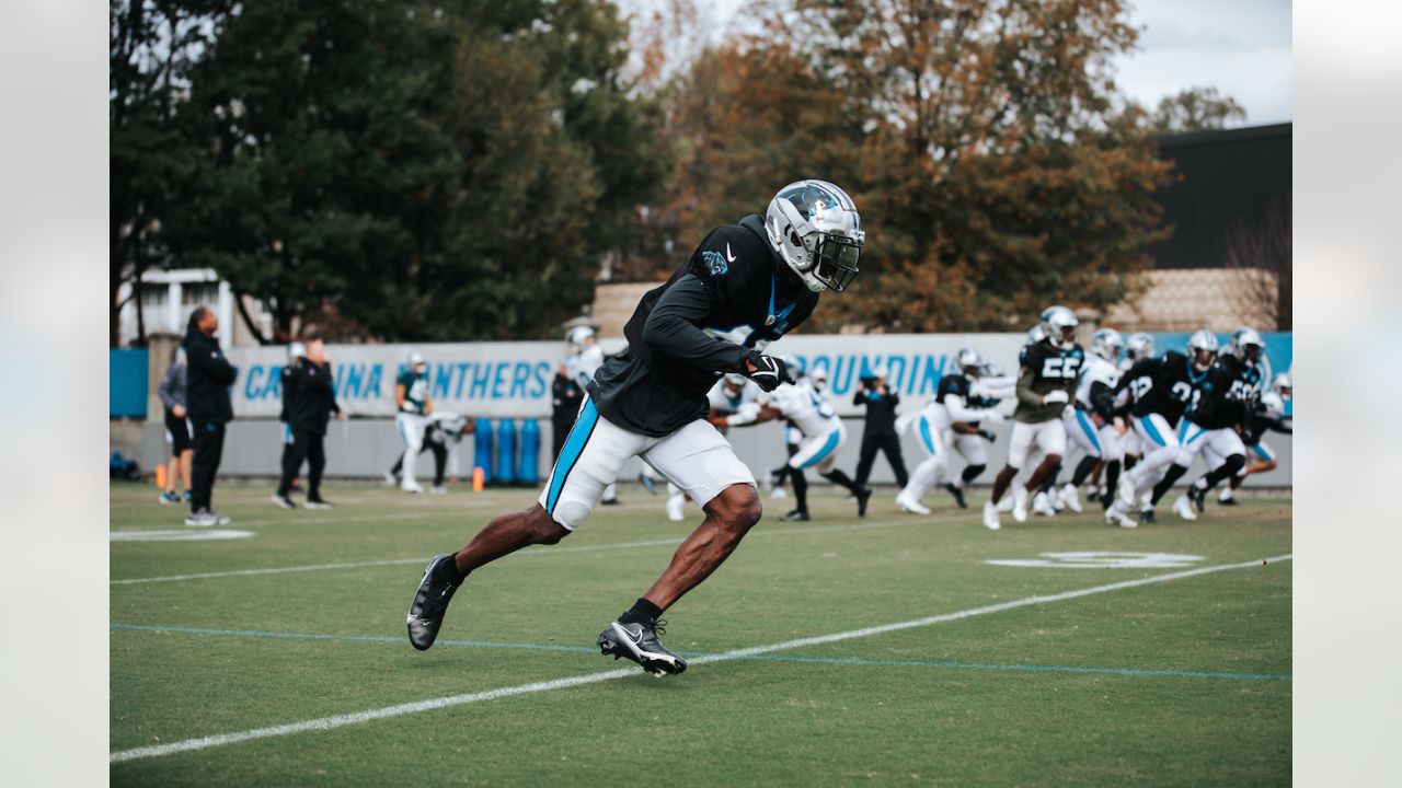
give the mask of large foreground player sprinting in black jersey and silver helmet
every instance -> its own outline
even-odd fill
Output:
[[[433,645],[449,600],[472,571],[531,544],[555,544],[589,517],[606,485],[641,456],[701,505],[705,520],[642,597],[600,632],[604,655],[655,674],[687,663],[658,638],[658,617],[707,579],[760,520],[754,477],[707,421],[707,391],[735,372],[773,391],[791,374],[763,349],[798,328],[819,293],[857,276],[865,233],[847,192],[784,186],[764,217],[712,230],[624,327],[628,346],[589,381],[587,398],[534,506],[502,515],[456,554],[435,557],[409,607],[414,648]]]

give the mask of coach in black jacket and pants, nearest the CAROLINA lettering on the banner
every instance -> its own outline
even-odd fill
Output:
[[[321,339],[307,342],[307,358],[297,359],[292,365],[293,400],[289,409],[289,425],[292,426],[292,451],[282,466],[282,481],[278,484],[278,494],[273,503],[290,509],[293,506],[287,494],[292,492],[292,480],[301,470],[301,461],[307,461],[307,509],[329,509],[321,498],[321,471],[327,467],[327,422],[331,414],[345,418],[341,407],[336,405],[336,390],[331,381],[331,358]]]

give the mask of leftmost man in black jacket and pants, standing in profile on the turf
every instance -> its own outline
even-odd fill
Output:
[[[224,425],[234,419],[229,387],[238,376],[215,341],[219,317],[209,307],[199,307],[185,327],[185,409],[195,429],[195,457],[191,461],[189,517],[186,526],[224,524],[213,510],[215,474],[224,454]]]

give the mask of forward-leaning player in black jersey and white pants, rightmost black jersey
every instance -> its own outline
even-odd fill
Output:
[[[1259,360],[1263,349],[1260,334],[1242,328],[1232,335],[1228,352],[1217,356],[1207,379],[1199,384],[1202,395],[1178,428],[1178,457],[1168,467],[1164,480],[1154,487],[1152,503],[1158,503],[1173,482],[1187,473],[1199,451],[1210,451],[1218,461],[1209,461],[1210,470],[1173,502],[1173,512],[1185,520],[1197,519],[1207,491],[1246,467],[1246,446],[1241,442],[1239,430],[1260,400]]]

